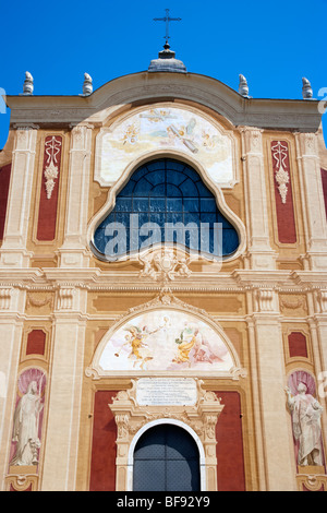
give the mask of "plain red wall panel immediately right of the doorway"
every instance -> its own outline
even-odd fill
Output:
[[[216,392],[225,405],[216,427],[218,491],[245,491],[241,399],[238,392]]]

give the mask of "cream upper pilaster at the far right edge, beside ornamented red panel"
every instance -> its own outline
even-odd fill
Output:
[[[317,136],[296,133],[296,159],[302,193],[306,260],[311,270],[327,269],[327,223]]]

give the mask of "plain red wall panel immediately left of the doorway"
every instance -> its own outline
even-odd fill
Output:
[[[117,426],[108,406],[116,394],[112,391],[98,391],[95,394],[90,491],[116,490]]]

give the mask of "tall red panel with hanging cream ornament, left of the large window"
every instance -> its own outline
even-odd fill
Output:
[[[43,181],[39,199],[39,214],[37,224],[37,240],[53,240],[56,238],[58,191],[61,167],[62,138],[60,135],[49,135],[45,140],[45,154],[43,165]],[[55,168],[53,189],[47,190],[49,179],[46,174],[49,166]]]

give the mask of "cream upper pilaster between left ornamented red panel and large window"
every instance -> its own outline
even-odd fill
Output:
[[[88,190],[92,129],[76,124],[71,131],[64,241],[59,250],[61,267],[88,266]]]

